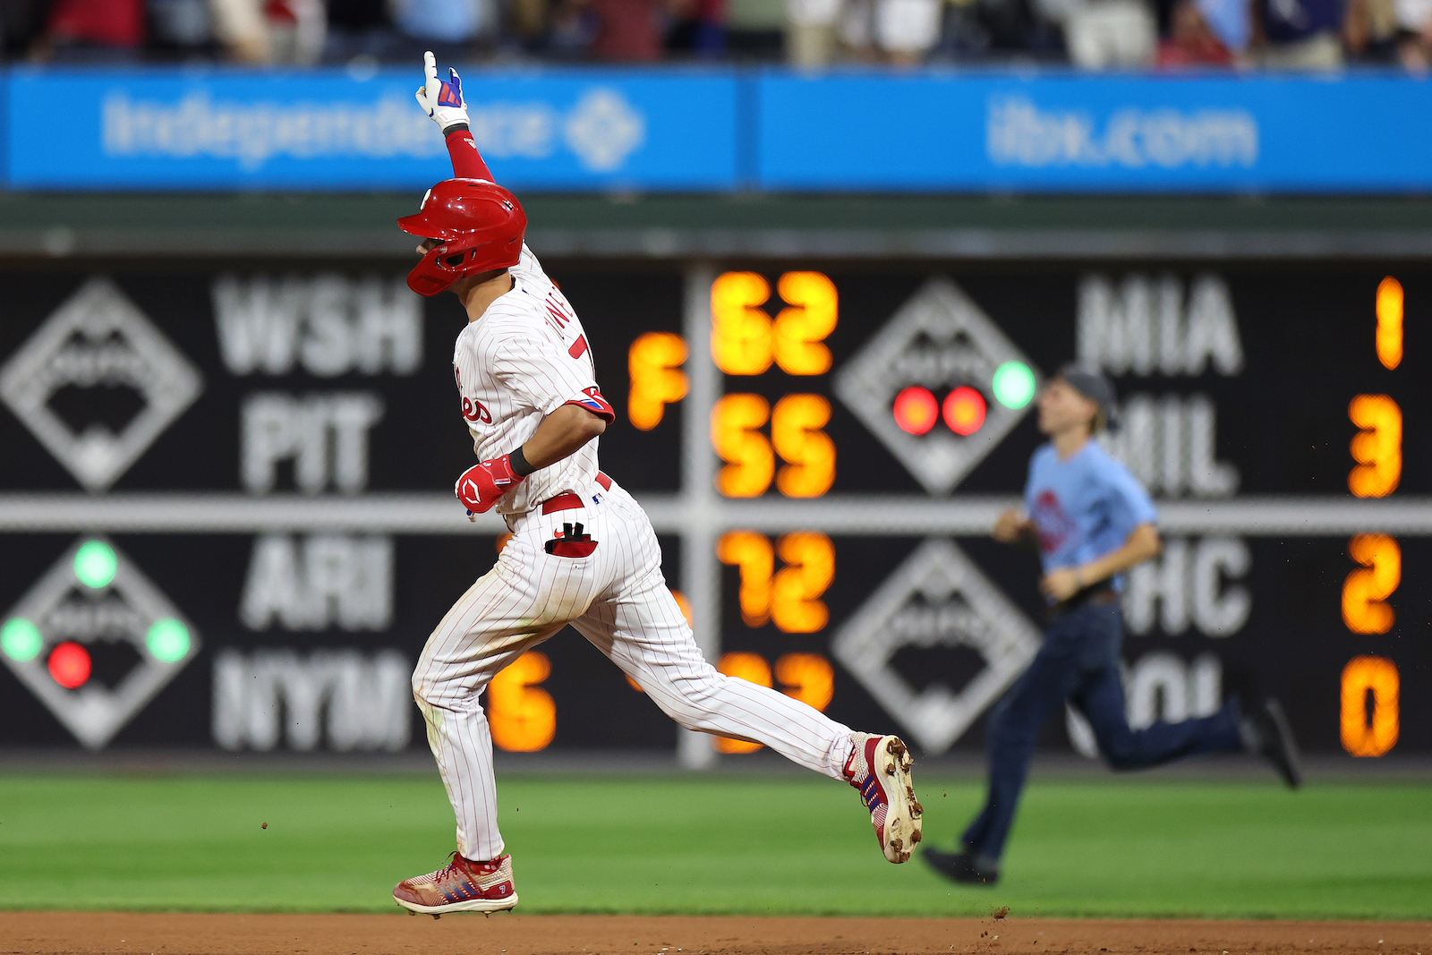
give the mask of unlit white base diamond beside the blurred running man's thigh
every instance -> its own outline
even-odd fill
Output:
[[[942,753],[1024,672],[1040,631],[965,554],[928,540],[831,641],[835,657],[927,753]],[[968,647],[984,667],[958,690],[916,690],[892,666],[902,647]]]

